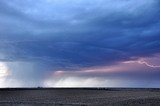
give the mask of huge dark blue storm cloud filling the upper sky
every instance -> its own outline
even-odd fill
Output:
[[[62,4],[55,0],[49,6],[41,0],[3,0],[1,60],[36,61],[67,70],[157,54],[159,1],[136,1],[101,0],[97,6],[96,1],[80,0],[76,7],[72,0]]]

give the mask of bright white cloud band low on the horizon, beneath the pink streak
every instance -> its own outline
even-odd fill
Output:
[[[45,87],[116,87],[121,82],[117,79],[104,79],[100,77],[68,76],[62,78],[50,78],[44,81]]]

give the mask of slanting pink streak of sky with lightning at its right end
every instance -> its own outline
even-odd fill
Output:
[[[150,58],[152,59],[152,58]],[[154,61],[154,59],[152,59]],[[53,76],[67,76],[67,75],[94,75],[94,74],[109,74],[116,72],[126,72],[133,71],[136,69],[147,69],[149,68],[160,68],[160,65],[153,65],[154,63],[149,63],[147,58],[141,58],[138,60],[124,61],[119,64],[112,66],[103,66],[103,67],[91,67],[86,69],[81,69],[79,71],[55,71]]]

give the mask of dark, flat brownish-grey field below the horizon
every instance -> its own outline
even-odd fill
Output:
[[[160,106],[160,89],[0,89],[0,106]]]

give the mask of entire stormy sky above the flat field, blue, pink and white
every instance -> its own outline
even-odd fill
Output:
[[[160,87],[159,0],[0,0],[0,87]]]

